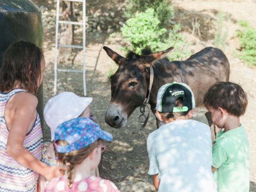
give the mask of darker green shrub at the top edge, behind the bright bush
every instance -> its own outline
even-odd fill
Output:
[[[128,0],[126,16],[132,17],[137,12],[145,12],[148,8],[154,9],[160,26],[169,25],[168,21],[174,17],[172,0]]]

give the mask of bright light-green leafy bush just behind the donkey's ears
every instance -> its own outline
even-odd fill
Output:
[[[138,54],[141,54],[141,50],[146,47],[150,47],[155,52],[173,46],[175,49],[171,52],[171,60],[181,59],[190,54],[186,51],[188,44],[179,30],[179,25],[175,25],[169,32],[160,27],[160,21],[152,8],[136,13],[121,28],[123,37],[131,42],[131,49]]]

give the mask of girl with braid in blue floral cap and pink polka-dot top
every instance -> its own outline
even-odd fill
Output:
[[[101,153],[111,141],[110,133],[86,117],[71,119],[55,130],[54,148],[58,163],[67,166],[64,176],[52,179],[45,192],[119,192],[114,183],[91,176],[100,162]]]

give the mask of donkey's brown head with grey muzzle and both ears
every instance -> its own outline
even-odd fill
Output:
[[[126,125],[131,113],[145,101],[150,76],[148,67],[173,47],[154,53],[148,49],[143,50],[142,55],[128,52],[126,58],[108,47],[103,49],[119,66],[109,79],[111,100],[105,114],[105,122],[113,128],[121,128]]]

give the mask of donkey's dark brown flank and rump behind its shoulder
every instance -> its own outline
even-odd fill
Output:
[[[196,104],[201,105],[204,94],[217,81],[229,81],[230,64],[224,52],[218,48],[206,47],[191,55],[185,61],[172,61],[178,67],[177,81],[191,87]]]

